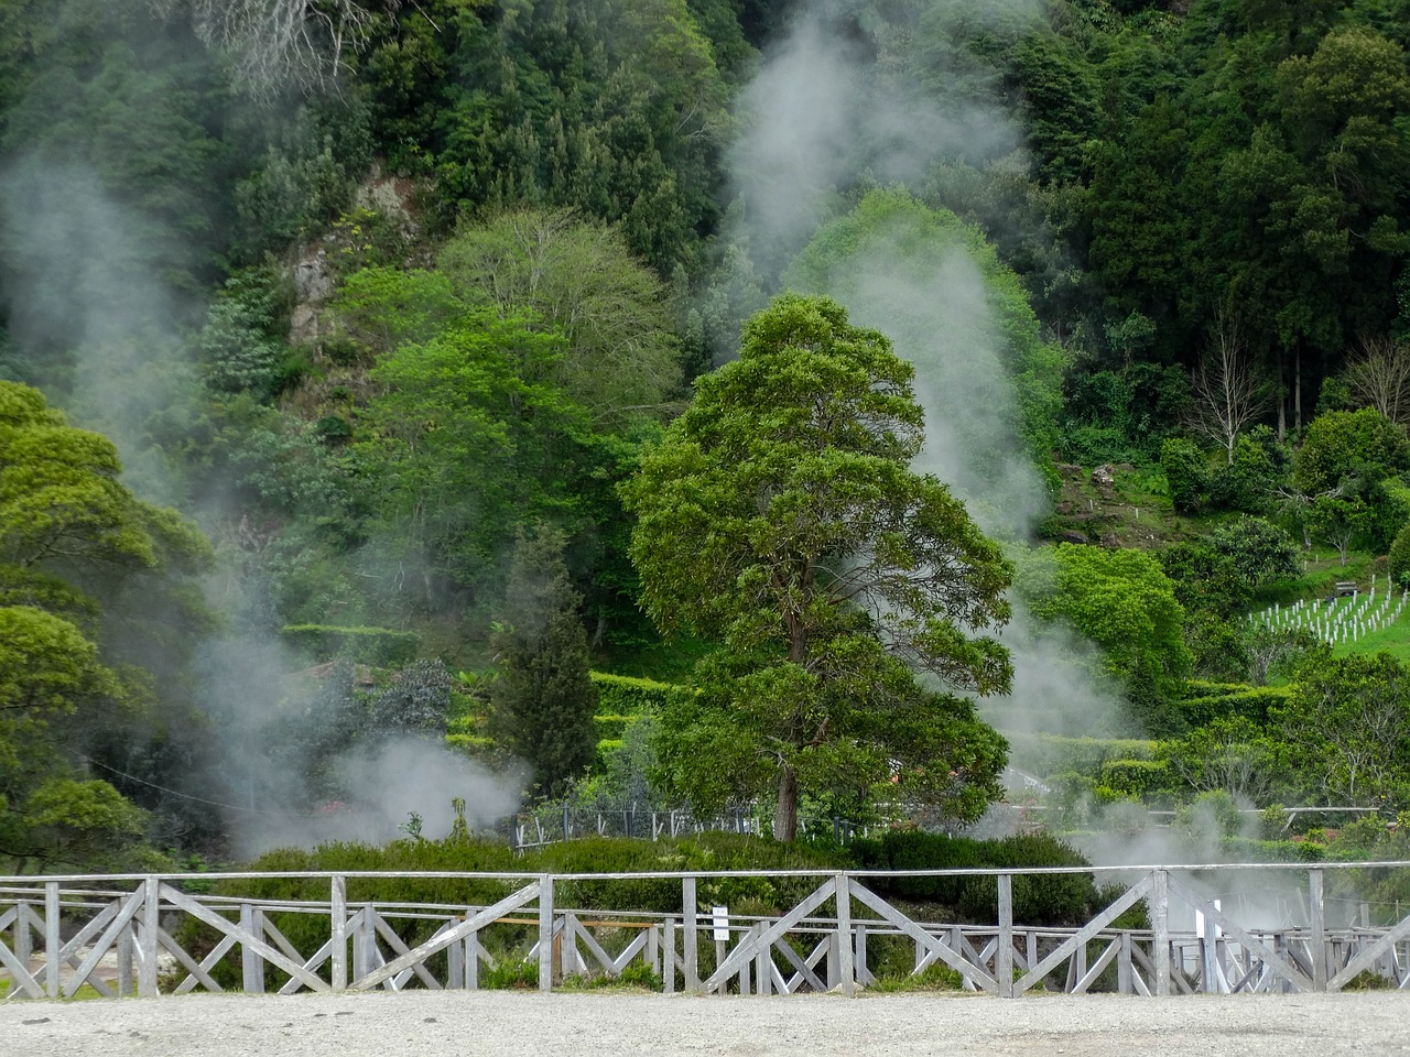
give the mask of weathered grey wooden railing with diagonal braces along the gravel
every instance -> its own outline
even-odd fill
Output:
[[[574,977],[656,981],[666,992],[854,994],[877,982],[881,948],[905,971],[949,967],[960,985],[1000,998],[1032,989],[1129,995],[1197,992],[1338,991],[1352,981],[1410,991],[1410,915],[1371,926],[1328,923],[1330,871],[1394,871],[1410,863],[1320,865],[1127,867],[1034,871],[733,871],[705,874],[206,874],[200,881],[252,886],[271,878],[327,885],[327,899],[278,901],[182,891],[189,875],[0,878],[0,978],[7,1001],[72,998],[90,987],[106,998],[155,998],[196,988],[238,987],[264,992],[275,975],[279,994],[399,991],[407,987],[475,989],[505,961],[551,991]],[[1306,920],[1249,927],[1238,912],[1207,898],[1211,878],[1238,871],[1280,875]],[[1014,877],[1083,872],[1120,878],[1121,892],[1087,923],[1032,927],[1014,920]],[[881,878],[973,877],[995,879],[993,925],[918,922],[873,891]],[[1385,875],[1385,874],[1383,874]],[[512,891],[479,905],[354,903],[350,879],[420,878],[503,882]],[[1191,878],[1198,877],[1198,886]],[[777,917],[702,910],[701,884],[792,878],[812,891]],[[671,881],[678,913],[630,906],[565,909],[554,896],[564,882]],[[1203,891],[1201,891],[1203,889]],[[1144,902],[1149,929],[1118,929],[1122,913]],[[1289,903],[1292,905],[1292,903]],[[290,917],[298,915],[300,917]],[[183,917],[204,926],[192,927]],[[316,922],[317,947],[300,950],[285,934],[293,922]],[[1193,927],[1180,922],[1194,922]],[[285,929],[279,927],[285,923]],[[400,926],[400,927],[398,927]],[[300,936],[309,932],[300,930]],[[193,941],[192,936],[202,936]],[[419,941],[405,936],[424,936]],[[185,936],[185,944],[178,939]],[[306,943],[307,946],[307,943]],[[914,957],[912,957],[914,956]],[[640,967],[640,968],[637,968]],[[238,972],[234,970],[238,968]],[[513,968],[513,965],[510,965]],[[220,978],[224,978],[221,982]]]

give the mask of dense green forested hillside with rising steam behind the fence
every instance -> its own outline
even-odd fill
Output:
[[[4,4],[0,872],[622,801],[1373,850],[1407,47],[1402,0]]]

